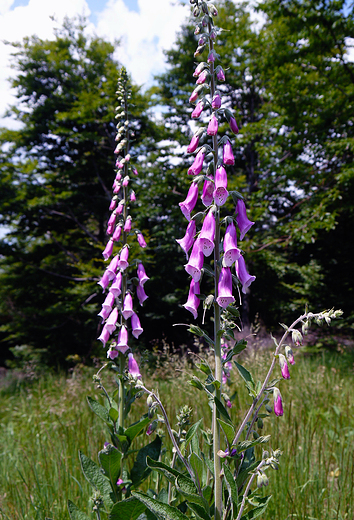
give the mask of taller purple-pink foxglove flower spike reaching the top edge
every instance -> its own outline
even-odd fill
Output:
[[[217,64],[219,56],[214,49],[214,41],[219,33],[219,29],[214,24],[214,17],[218,15],[217,9],[204,0],[195,0],[193,6],[194,16],[201,17],[195,29],[195,34],[198,34],[195,56],[199,56],[207,50],[208,57],[206,61],[197,65],[193,73],[196,78],[196,88],[189,101],[196,106],[192,112],[192,119],[199,119],[206,109],[209,109],[211,113],[207,127],[198,128],[187,148],[188,153],[196,152],[194,161],[188,169],[188,175],[196,178],[191,183],[186,199],[179,204],[189,224],[185,236],[177,242],[187,255],[188,262],[184,267],[192,277],[188,300],[184,307],[196,319],[200,304],[199,282],[203,272],[204,258],[209,257],[215,247],[216,218],[219,221],[220,210],[229,197],[227,168],[235,164],[229,138],[224,136],[219,139],[218,137],[219,124],[224,119],[229,123],[230,130],[234,134],[237,134],[239,130],[233,112],[222,106],[221,93],[217,88],[218,83],[225,81],[224,69]],[[207,144],[200,146],[201,139],[207,138],[207,136],[211,137],[212,146]],[[205,163],[207,167],[204,172]],[[199,185],[201,184],[203,185],[201,202],[206,209],[204,212],[192,216],[200,195]],[[234,199],[235,193],[232,195]],[[216,297],[217,304],[223,309],[235,301],[232,295],[231,268],[233,265],[243,293],[246,293],[247,288],[255,280],[255,276],[248,273],[245,260],[237,247],[237,228],[239,239],[243,240],[254,222],[248,219],[245,202],[240,195],[237,194],[234,202],[236,204],[235,215],[228,217],[225,221],[226,231],[222,242],[222,262]],[[203,220],[199,231],[197,230],[198,220]],[[190,249],[191,253],[188,257]]]

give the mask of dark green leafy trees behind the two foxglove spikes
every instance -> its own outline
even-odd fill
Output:
[[[226,30],[217,52],[230,64],[220,90],[240,127],[236,142],[229,136],[236,151],[230,188],[243,193],[256,222],[245,258],[257,280],[243,299],[242,322],[258,313],[271,327],[308,303],[314,311],[342,308],[350,326],[353,5],[265,0],[257,9],[261,26],[246,4],[218,3],[218,25]],[[192,25],[182,27],[156,86],[146,93],[133,87],[135,219],[147,237],[143,260],[151,277],[144,348],[193,343],[173,324],[190,319],[175,239],[186,227],[178,203],[191,163],[184,145],[192,136],[192,74],[206,59],[193,58],[195,42]],[[97,281],[114,178],[120,64],[113,53],[70,20],[54,40],[31,37],[14,46],[18,103],[9,113],[21,128],[0,133],[0,223],[9,229],[0,243],[1,363],[13,347],[51,365],[102,354]]]

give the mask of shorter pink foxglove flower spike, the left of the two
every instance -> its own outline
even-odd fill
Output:
[[[112,186],[113,197],[109,206],[111,215],[107,223],[109,240],[103,251],[105,261],[108,261],[111,257],[112,259],[98,282],[103,291],[107,290],[102,310],[99,313],[104,325],[98,339],[105,346],[112,336],[113,341],[107,353],[107,357],[112,360],[118,356],[119,352],[125,354],[129,349],[128,320],[130,320],[130,328],[135,338],[138,338],[143,332],[139,317],[134,310],[134,286],[130,284],[131,287],[128,287],[129,238],[135,235],[139,245],[142,248],[146,247],[142,233],[134,229],[133,219],[129,214],[130,204],[136,200],[135,191],[130,189],[130,185],[133,179],[132,175],[137,175],[137,170],[132,164],[129,153],[130,139],[134,134],[131,131],[128,112],[131,89],[128,74],[124,68],[122,68],[118,80],[117,96],[119,106],[116,109],[116,119],[119,122],[116,126],[117,146],[114,151],[117,154],[116,176]],[[116,255],[113,254],[115,246],[118,246]],[[139,261],[136,263],[138,280],[136,297],[142,305],[147,298],[144,284],[149,278],[146,275],[144,265]],[[115,338],[116,331],[118,334]],[[140,377],[139,368],[132,353],[128,354],[128,370],[134,379]]]

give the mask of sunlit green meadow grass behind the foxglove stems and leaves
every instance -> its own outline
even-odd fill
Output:
[[[270,355],[258,352],[245,364],[261,374]],[[280,383],[284,416],[272,415],[264,424],[264,433],[272,434],[272,448],[282,449],[283,456],[279,470],[268,473],[265,491],[273,499],[262,520],[352,520],[353,359],[344,353],[298,356],[296,361],[290,381]],[[46,374],[0,391],[0,518],[68,519],[68,498],[91,510],[91,488],[77,454],[81,449],[95,459],[108,440],[86,404],[86,395],[96,393],[92,373]],[[170,416],[190,404],[194,418],[204,416],[207,421],[207,402],[186,384],[186,377],[176,379],[173,369],[163,378],[161,374],[153,380],[147,377],[146,383],[159,388]],[[235,419],[242,417],[249,399],[239,383],[230,389],[237,390],[231,410]],[[146,411],[145,399],[133,408],[138,418]]]

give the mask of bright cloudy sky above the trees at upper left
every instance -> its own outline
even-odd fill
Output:
[[[13,58],[4,41],[34,34],[51,39],[53,28],[60,27],[65,16],[85,15],[90,33],[121,40],[115,57],[136,83],[149,86],[153,74],[164,70],[163,50],[171,48],[188,14],[188,6],[178,0],[0,0],[0,126],[16,128],[3,117],[15,102],[7,81],[14,75]]]

